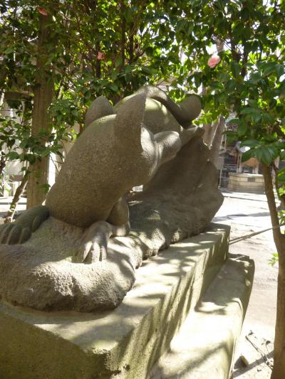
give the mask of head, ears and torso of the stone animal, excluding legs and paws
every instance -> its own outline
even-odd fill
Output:
[[[164,105],[147,100],[155,95]],[[201,105],[197,96],[192,99],[187,100],[188,107],[181,107],[164,92],[147,87],[116,107],[116,114],[110,114],[111,106],[105,98],[96,99],[86,114],[87,123],[93,117],[94,121],[69,152],[46,198],[51,215],[82,228],[108,220],[112,208],[129,189],[148,183],[161,164],[175,156],[182,135],[184,143],[194,135],[191,117],[199,114]],[[156,112],[149,110],[152,102],[158,105]],[[190,130],[179,122],[187,122]]]

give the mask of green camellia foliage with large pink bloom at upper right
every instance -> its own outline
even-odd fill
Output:
[[[237,114],[233,137],[251,148],[244,159],[267,165],[285,147],[284,11],[283,1],[192,1],[183,21],[199,25],[187,36],[193,42],[185,54],[197,57],[187,84],[207,87],[208,118]],[[221,43],[222,64],[211,69],[205,48]]]

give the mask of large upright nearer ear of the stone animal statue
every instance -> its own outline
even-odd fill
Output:
[[[130,97],[128,101],[120,105],[115,117],[115,134],[119,139],[140,144],[142,121],[145,116],[144,93]]]

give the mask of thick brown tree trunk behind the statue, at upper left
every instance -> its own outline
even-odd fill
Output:
[[[49,38],[49,17],[40,15],[40,31],[38,36],[38,58],[37,58],[37,84],[33,97],[33,117],[31,134],[36,136],[41,129],[48,129],[48,107],[53,98],[53,80],[46,73],[46,60],[48,53],[46,46],[51,43]],[[40,205],[46,198],[44,186],[48,183],[48,161],[49,157],[42,157],[41,161],[31,167],[28,178],[27,208]]]

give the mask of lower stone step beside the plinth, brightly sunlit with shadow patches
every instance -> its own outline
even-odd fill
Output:
[[[254,276],[248,257],[231,257],[190,312],[151,379],[228,379]]]

